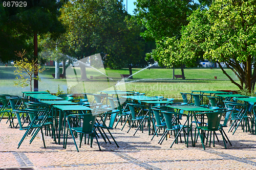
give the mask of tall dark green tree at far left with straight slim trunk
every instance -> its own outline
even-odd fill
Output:
[[[5,31],[3,35],[5,37],[11,37],[9,38],[12,40],[11,42],[15,41],[15,39],[19,40],[22,42],[20,46],[23,47],[33,44],[33,60],[37,61],[37,35],[49,33],[52,38],[56,38],[60,33],[65,31],[61,22],[57,19],[59,15],[58,10],[63,1],[32,0],[26,3],[26,6],[23,5],[22,8],[14,6],[10,8],[1,5],[0,10],[3,12],[2,15],[4,18],[2,20],[2,28]],[[33,41],[31,41],[32,37]],[[13,50],[12,48],[9,49]],[[0,54],[0,57],[5,60],[7,56],[5,56],[6,53],[3,54]],[[37,72],[34,72],[34,77],[37,77]],[[34,79],[34,90],[38,91],[37,79]]]

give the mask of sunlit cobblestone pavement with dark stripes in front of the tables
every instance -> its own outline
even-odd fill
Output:
[[[169,148],[174,139],[172,135],[160,145],[160,136],[151,141],[152,135],[148,135],[147,128],[144,133],[138,131],[135,136],[134,128],[129,133],[126,133],[128,126],[123,131],[120,128],[121,125],[112,130],[119,148],[114,142],[105,143],[100,138],[102,151],[98,150],[97,143],[94,142],[93,148],[82,144],[80,152],[77,152],[72,137],[68,138],[67,149],[63,149],[63,139],[60,144],[55,144],[50,136],[45,136],[45,149],[38,134],[31,144],[31,136],[28,136],[17,149],[25,131],[10,128],[3,119],[0,123],[0,170],[256,169],[256,135],[243,132],[241,128],[234,135],[227,133],[232,146],[227,143],[227,149],[224,149],[223,141],[220,140],[216,141],[215,147],[207,145],[206,150],[203,150],[200,139],[196,147],[192,147],[189,142],[189,147],[186,148],[183,140],[183,143],[179,142]],[[220,134],[218,136],[221,139]]]

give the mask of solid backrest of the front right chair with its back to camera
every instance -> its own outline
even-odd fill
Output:
[[[223,111],[208,112],[207,114],[207,126],[209,130],[218,130]]]

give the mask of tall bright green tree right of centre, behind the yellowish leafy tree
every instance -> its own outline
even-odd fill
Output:
[[[135,9],[135,12],[142,25],[146,28],[145,32],[142,33],[142,36],[146,40],[155,40],[159,48],[165,46],[162,42],[166,41],[166,39],[169,37],[176,37],[173,40],[168,41],[169,43],[175,42],[175,39],[180,39],[180,31],[182,27],[188,24],[187,17],[200,6],[209,6],[210,3],[211,1],[204,0],[138,0],[136,3],[137,8]],[[178,44],[176,43],[175,45]],[[154,56],[155,55],[153,54],[147,55],[147,59]],[[158,60],[158,57],[155,57],[154,59],[158,61],[161,66],[164,65],[164,62]],[[184,79],[184,64],[185,62],[177,62],[176,64],[167,64],[165,66],[169,68],[181,67],[182,77]]]

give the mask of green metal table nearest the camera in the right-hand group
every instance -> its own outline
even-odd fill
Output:
[[[188,136],[189,136],[189,131],[191,132],[191,140],[193,143],[193,135],[192,135],[192,129],[190,129],[190,125],[189,125],[189,117],[191,117],[191,123],[192,123],[192,118],[194,116],[195,112],[210,112],[210,111],[215,111],[213,109],[208,109],[208,108],[204,108],[204,107],[198,107],[198,106],[179,106],[179,105],[170,105],[170,106],[166,106],[169,108],[173,108],[173,109],[180,109],[180,110],[184,110],[184,111],[188,111],[188,119],[187,119],[187,148],[188,148]],[[190,124],[191,124],[190,123]],[[177,134],[177,136],[180,134],[181,130],[179,131],[179,133]],[[193,144],[193,146],[195,147],[195,145]]]

